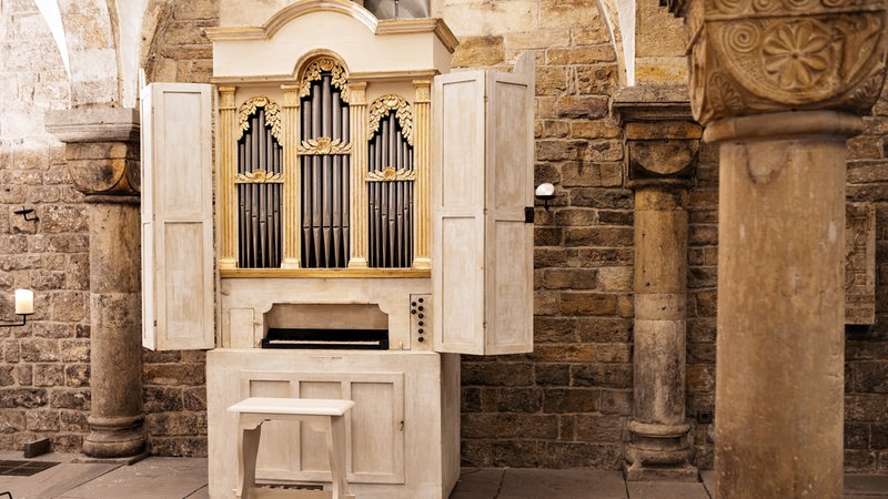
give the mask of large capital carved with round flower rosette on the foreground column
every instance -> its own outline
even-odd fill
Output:
[[[885,78],[882,0],[685,0],[703,124],[798,110],[867,112]]]

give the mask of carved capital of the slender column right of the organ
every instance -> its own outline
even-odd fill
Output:
[[[694,180],[702,129],[685,95],[684,85],[642,85],[614,96],[626,141],[628,187],[687,189]]]

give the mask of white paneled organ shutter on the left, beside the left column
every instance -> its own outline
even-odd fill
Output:
[[[142,343],[214,346],[212,85],[142,91]]]

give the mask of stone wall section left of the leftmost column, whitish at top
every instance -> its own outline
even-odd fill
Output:
[[[43,113],[69,105],[69,83],[32,1],[0,1],[0,319],[12,289],[34,291],[26,327],[0,328],[0,449],[44,436],[75,451],[90,407],[89,236],[64,152]],[[39,222],[13,212],[36,210]]]

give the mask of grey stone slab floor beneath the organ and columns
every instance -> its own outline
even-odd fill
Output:
[[[60,465],[30,477],[0,475],[0,499],[206,499],[206,459],[150,457],[132,466],[74,462],[50,454],[31,461]],[[0,452],[0,462],[23,461]],[[709,499],[714,476],[703,482],[626,483],[618,471],[463,469],[450,499]],[[888,476],[847,475],[848,499],[888,498]],[[359,498],[360,499],[360,498]]]

